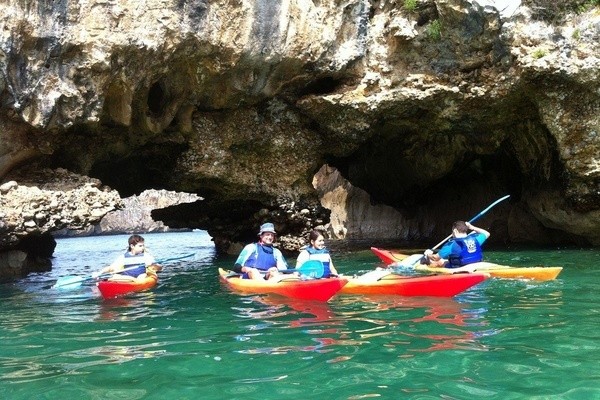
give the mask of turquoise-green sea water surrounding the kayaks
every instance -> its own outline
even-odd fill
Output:
[[[88,276],[127,236],[61,239],[53,270],[0,285],[3,399],[600,398],[600,253],[488,251],[562,265],[559,279],[491,279],[452,299],[342,296],[306,303],[221,287],[203,232],[146,235],[171,261],[153,290],[102,300]],[[372,270],[370,251],[336,254]]]

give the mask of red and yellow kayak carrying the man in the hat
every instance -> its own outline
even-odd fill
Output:
[[[280,281],[263,279],[242,279],[219,268],[219,279],[232,290],[241,293],[277,294],[300,300],[328,301],[348,282],[345,278],[324,278],[301,280],[298,277],[284,278]]]

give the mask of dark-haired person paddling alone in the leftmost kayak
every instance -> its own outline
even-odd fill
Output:
[[[127,240],[128,248],[108,267],[92,274],[97,278],[102,274],[113,273],[109,278],[112,281],[144,280],[148,275],[155,275],[162,267],[156,264],[154,257],[146,251],[144,238],[140,235],[131,235]]]

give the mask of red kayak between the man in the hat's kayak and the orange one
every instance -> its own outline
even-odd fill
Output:
[[[388,271],[372,271],[350,281],[341,294],[452,297],[483,282],[487,275],[456,274],[404,276]]]

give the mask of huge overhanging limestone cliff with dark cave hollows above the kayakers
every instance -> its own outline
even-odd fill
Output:
[[[565,4],[6,0],[0,179],[35,160],[121,197],[195,193],[153,218],[221,251],[265,220],[287,250],[330,220],[436,242],[504,194],[493,238],[598,245],[600,13]],[[315,189],[324,165],[338,184]]]

